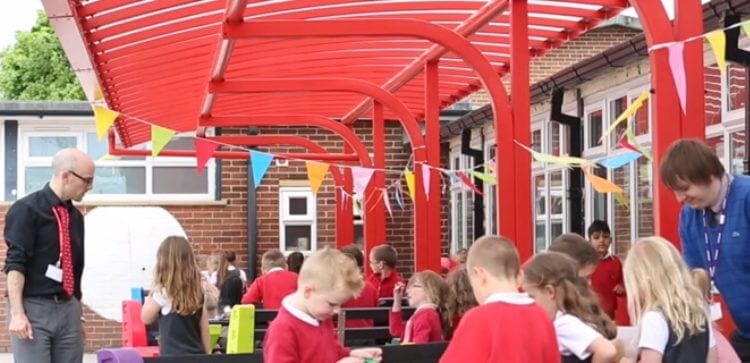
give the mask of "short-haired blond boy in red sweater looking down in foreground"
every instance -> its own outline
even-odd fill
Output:
[[[339,360],[380,361],[380,348],[349,351],[341,346],[331,317],[341,304],[362,290],[357,265],[343,253],[323,249],[305,260],[297,291],[284,298],[268,327],[263,359],[268,362],[330,363]],[[349,359],[349,360],[351,360]]]

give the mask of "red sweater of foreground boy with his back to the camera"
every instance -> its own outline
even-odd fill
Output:
[[[560,362],[555,329],[528,295],[496,293],[464,314],[441,363]]]

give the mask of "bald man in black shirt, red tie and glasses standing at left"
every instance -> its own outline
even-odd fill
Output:
[[[64,149],[52,160],[44,188],[10,207],[8,331],[17,363],[79,363],[83,360],[81,201],[94,182],[94,162],[80,150]]]

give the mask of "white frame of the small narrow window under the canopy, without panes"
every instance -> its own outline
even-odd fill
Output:
[[[289,199],[307,199],[307,213],[304,216],[289,214]],[[292,252],[286,247],[286,226],[310,226],[310,250],[300,251],[309,255],[318,249],[318,212],[315,195],[310,187],[279,187],[279,249]]]

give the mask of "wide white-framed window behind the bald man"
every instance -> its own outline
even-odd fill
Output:
[[[19,197],[38,190],[52,175],[52,157],[63,148],[86,151],[95,161],[96,173],[87,201],[213,200],[215,163],[198,174],[196,159],[172,157],[120,157],[99,160],[107,154],[107,140],[98,140],[93,127],[23,125],[19,130]],[[192,136],[176,136],[165,149],[192,150]],[[150,145],[135,148],[150,148]]]

